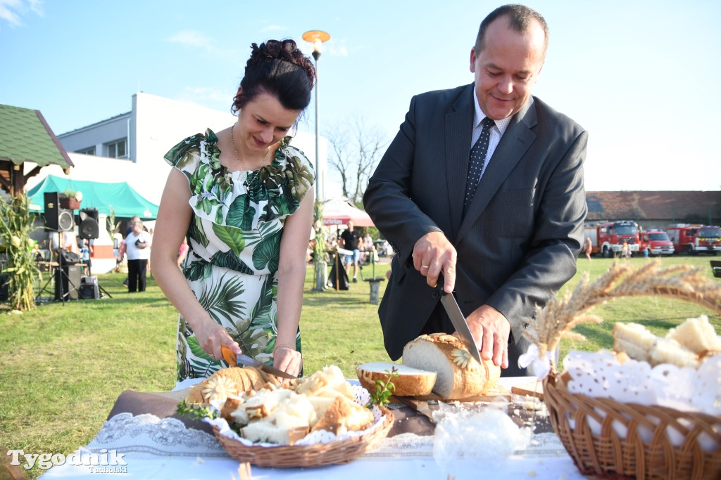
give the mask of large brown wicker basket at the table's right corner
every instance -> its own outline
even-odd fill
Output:
[[[572,394],[559,373],[544,380],[544,399],[554,430],[581,474],[604,479],[721,478],[721,446],[715,451],[702,448],[704,443],[721,445],[721,417]],[[591,431],[594,421],[601,425],[599,435]],[[667,427],[683,435],[681,445],[673,445]]]

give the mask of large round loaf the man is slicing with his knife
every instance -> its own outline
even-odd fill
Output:
[[[478,363],[459,338],[446,333],[420,335],[407,343],[403,364],[435,372],[433,391],[443,399],[485,394],[500,378],[500,367],[487,360]]]

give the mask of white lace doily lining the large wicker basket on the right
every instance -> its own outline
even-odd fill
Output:
[[[571,393],[608,397],[622,403],[661,405],[681,412],[721,415],[721,356],[713,356],[699,368],[678,368],[663,363],[651,368],[647,362],[623,364],[614,353],[572,350],[563,361],[572,378]]]

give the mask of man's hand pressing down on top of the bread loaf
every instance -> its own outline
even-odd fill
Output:
[[[497,309],[482,305],[466,318],[481,357],[493,360],[500,368],[508,368],[508,337],[510,322]]]

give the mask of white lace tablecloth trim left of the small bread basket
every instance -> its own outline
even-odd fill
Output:
[[[227,457],[215,436],[201,430],[186,428],[175,418],[160,419],[155,415],[120,413],[106,420],[99,433],[87,445],[94,453],[99,450],[118,450],[133,458]]]

